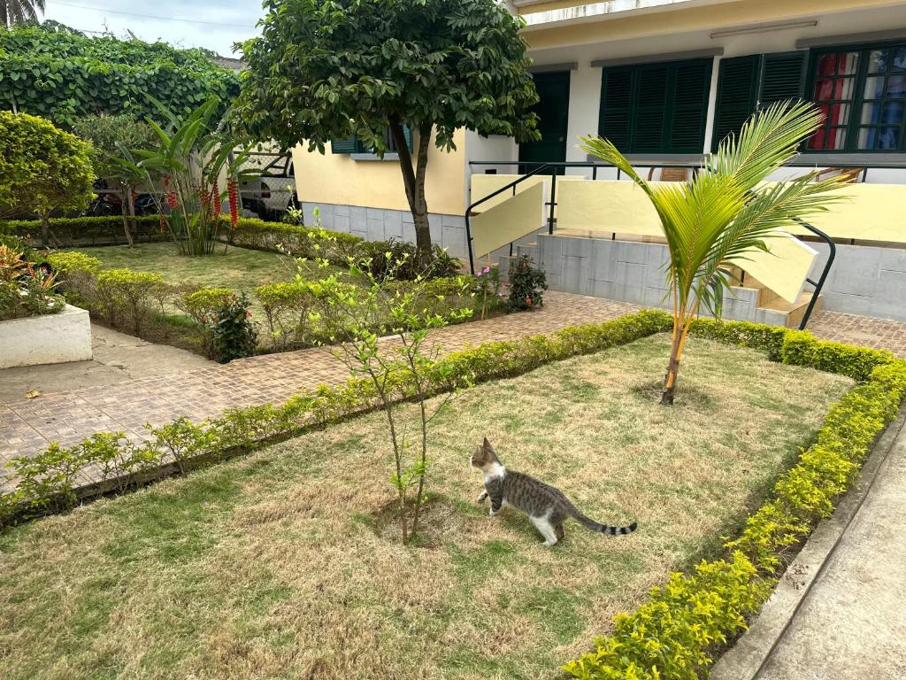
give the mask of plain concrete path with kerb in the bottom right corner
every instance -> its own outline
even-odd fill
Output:
[[[901,413],[882,437],[859,484],[815,529],[714,680],[906,678],[904,420]]]

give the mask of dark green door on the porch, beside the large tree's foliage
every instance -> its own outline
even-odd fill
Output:
[[[535,89],[540,101],[532,109],[541,119],[538,130],[539,141],[528,141],[519,145],[519,160],[564,161],[566,160],[566,130],[569,118],[569,71],[535,73]],[[520,172],[528,172],[536,166],[520,166]],[[558,171],[563,174],[563,169]]]

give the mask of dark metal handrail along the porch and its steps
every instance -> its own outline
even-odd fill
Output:
[[[517,184],[529,179],[530,177],[535,177],[536,175],[541,174],[542,170],[549,170],[550,175],[551,175],[551,195],[550,195],[550,201],[545,202],[545,206],[549,206],[549,208],[550,208],[550,210],[548,212],[548,217],[547,217],[547,233],[553,234],[554,233],[554,222],[556,221],[556,219],[554,217],[554,209],[556,208],[556,205],[557,205],[557,198],[556,198],[556,196],[557,196],[557,180],[556,180],[557,170],[560,168],[564,168],[564,169],[565,168],[591,168],[592,169],[592,180],[597,180],[599,168],[613,168],[614,167],[610,163],[597,163],[597,162],[593,162],[593,161],[570,161],[570,160],[551,161],[551,162],[519,161],[519,160],[513,160],[513,161],[470,160],[469,165],[497,165],[497,166],[516,165],[516,166],[525,166],[525,167],[532,166],[532,165],[537,166],[537,167],[535,167],[534,170],[531,170],[531,171],[525,173],[522,177],[518,178],[517,180],[511,181],[505,187],[501,187],[500,189],[497,189],[496,191],[488,194],[487,196],[485,196],[482,199],[472,201],[472,203],[470,203],[468,208],[466,209],[466,242],[467,242],[467,246],[468,246],[468,268],[469,268],[469,271],[473,275],[475,274],[475,254],[472,251],[472,229],[471,229],[471,224],[469,222],[469,217],[470,217],[473,209],[475,209],[477,206],[481,205],[485,201],[487,201],[489,199],[493,199],[495,196],[499,196],[507,189],[513,189],[513,195],[516,196],[516,185]],[[685,168],[687,170],[692,171],[693,177],[695,176],[696,172],[698,172],[702,168],[700,163],[671,163],[669,161],[661,162],[661,163],[655,163],[655,162],[648,163],[645,161],[639,161],[639,165],[642,168],[652,168],[652,169],[659,169],[659,170],[663,169],[663,168]],[[812,168],[812,167],[814,167],[814,164],[812,164],[812,163],[806,163],[806,164],[790,163],[786,167]],[[844,164],[834,164],[834,168],[843,168],[843,167],[845,167]],[[853,164],[849,167],[862,168],[863,165]],[[891,164],[889,166],[872,165],[872,167],[874,167],[874,168],[890,167],[890,168],[903,169],[906,166]],[[620,180],[621,179],[621,170],[619,168],[617,168],[616,170],[617,170],[617,180]],[[868,168],[865,168],[865,172],[863,172],[863,181],[865,180],[867,173],[868,173]],[[828,257],[827,257],[827,262],[824,263],[824,269],[822,269],[821,276],[818,277],[818,280],[814,281],[810,277],[805,278],[805,281],[814,287],[814,291],[812,293],[812,299],[809,300],[808,306],[805,308],[805,315],[803,315],[802,321],[799,323],[799,330],[805,330],[805,325],[808,324],[808,320],[812,316],[812,312],[814,311],[814,306],[817,303],[818,296],[821,295],[821,290],[822,290],[822,288],[824,288],[824,282],[827,280],[827,275],[830,273],[831,267],[834,264],[834,257],[836,257],[837,248],[836,248],[836,245],[834,244],[834,239],[830,238],[821,229],[814,227],[813,225],[809,224],[808,222],[806,222],[803,219],[795,218],[795,221],[803,228],[811,231],[818,238],[821,238],[824,241],[824,243],[827,244],[827,247],[830,248],[830,251],[829,251]],[[510,255],[512,255],[512,253],[513,253],[513,244],[511,243],[510,244]]]

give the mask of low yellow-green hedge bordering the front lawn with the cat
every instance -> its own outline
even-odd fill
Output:
[[[440,358],[430,368],[436,393],[523,374],[570,356],[625,345],[669,332],[670,315],[644,310],[602,324],[564,328],[554,335],[479,345]],[[888,352],[820,341],[807,332],[745,322],[698,320],[693,334],[757,348],[775,361],[850,375],[860,381],[834,404],[816,441],[776,481],[770,499],[725,544],[723,559],[702,560],[687,574],[675,573],[653,588],[630,614],[616,617],[612,636],[595,651],[564,666],[577,678],[693,680],[704,677],[721,646],[746,628],[776,585],[785,553],[799,544],[855,480],[872,443],[906,397],[906,361]],[[401,393],[406,393],[403,385]],[[11,463],[14,493],[0,496],[0,522],[11,523],[72,507],[78,497],[124,491],[173,471],[222,460],[266,442],[341,421],[369,410],[369,384],[350,380],[320,386],[282,406],[265,404],[227,411],[198,425],[179,419],[150,428],[150,442],[136,445],[122,432],[96,434],[71,449],[52,444],[35,458]],[[101,483],[74,489],[88,465]]]

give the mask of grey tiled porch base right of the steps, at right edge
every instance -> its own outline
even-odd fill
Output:
[[[820,254],[811,274],[817,281],[829,248],[808,245]],[[906,321],[906,249],[838,245],[821,301],[834,312]]]

